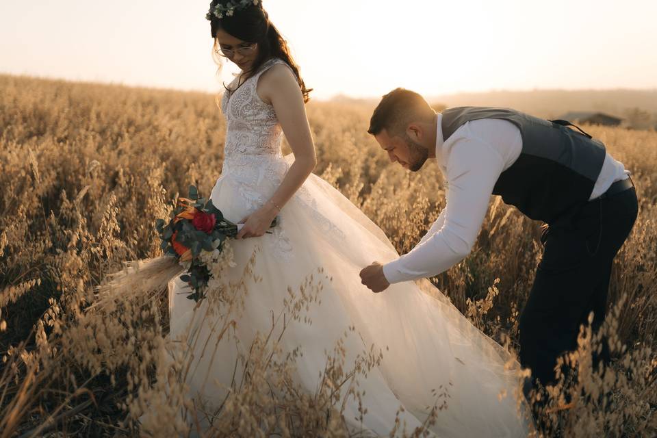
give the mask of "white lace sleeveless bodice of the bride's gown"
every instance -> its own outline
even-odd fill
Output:
[[[224,92],[221,101],[221,109],[226,118],[224,159],[229,162],[248,159],[249,155],[281,156],[283,130],[274,107],[263,102],[256,92],[259,77],[274,64],[287,65],[276,58],[269,60],[234,92]],[[229,88],[236,86],[237,79]]]

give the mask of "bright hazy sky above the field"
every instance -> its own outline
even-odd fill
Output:
[[[314,96],[657,88],[655,0],[265,0]],[[220,89],[203,0],[1,0],[0,73]],[[227,68],[224,74],[230,73]]]

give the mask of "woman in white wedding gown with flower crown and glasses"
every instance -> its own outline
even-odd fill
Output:
[[[211,192],[227,219],[244,224],[231,242],[234,263],[222,281],[243,281],[245,266],[260,281],[241,297],[230,337],[212,329],[219,316],[207,302],[196,305],[187,299],[188,285],[179,278],[170,282],[170,337],[188,337],[190,391],[198,400],[224,400],[244,346],[270,332],[272,315],[286,309],[290,290],[308,287],[309,275],[324,272],[330,279],[308,305],[312,323],[285,322],[279,348],[296,357],[294,380],[309,393],[336,345],[346,365],[381,349],[382,359],[358,378],[359,397],[343,391],[341,424],[361,435],[399,433],[396,422],[412,432],[439,404],[430,434],[526,436],[524,404],[514,396],[518,366],[502,347],[448,298],[424,292],[426,280],[392,285],[386,294],[372,294],[361,284],[361,268],[398,254],[381,229],[311,173],[316,158],[304,106],[309,90],[258,3],[215,0],[207,18],[216,53],[242,70],[222,97],[224,162]],[[287,157],[281,153],[283,133],[293,152]],[[192,342],[192,334],[203,340]]]

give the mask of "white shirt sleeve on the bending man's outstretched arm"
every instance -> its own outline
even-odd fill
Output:
[[[383,266],[389,283],[437,275],[472,250],[504,160],[477,137],[456,140],[446,151],[447,204],[431,229],[409,253]]]

